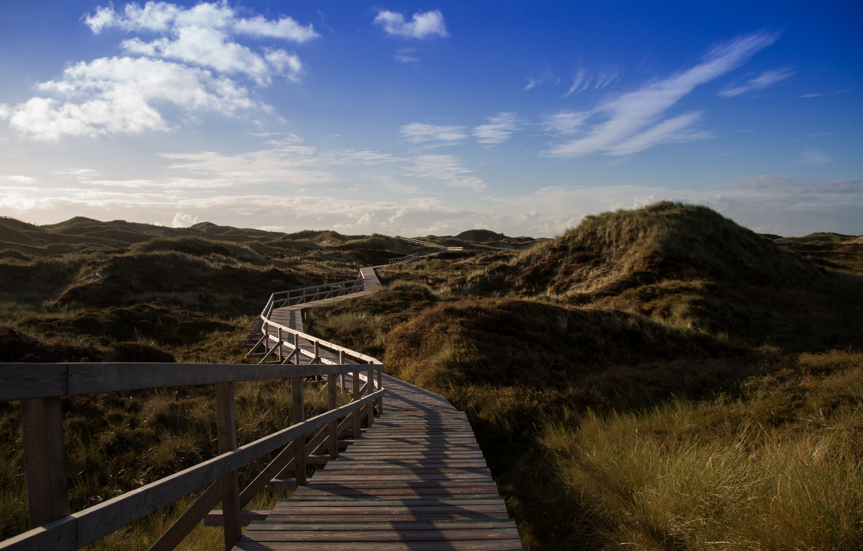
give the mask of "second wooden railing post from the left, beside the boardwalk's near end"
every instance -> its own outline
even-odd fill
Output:
[[[236,448],[236,414],[234,410],[234,383],[216,383],[216,418],[218,453],[226,454]],[[240,478],[236,471],[222,477],[222,522],[224,548],[234,548],[240,539]]]

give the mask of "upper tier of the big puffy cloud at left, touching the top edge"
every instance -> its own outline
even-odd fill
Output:
[[[153,41],[130,38],[120,46],[127,53],[177,59],[226,74],[243,73],[259,85],[269,84],[276,74],[291,80],[299,79],[302,72],[299,57],[283,49],[264,48],[260,53],[254,52],[232,40],[233,35],[296,42],[319,36],[311,23],[303,27],[290,17],[282,17],[278,21],[263,16],[242,18],[227,3],[198,3],[192,8],[183,8],[173,3],[148,2],[143,8],[127,4],[122,13],[115,11],[113,6],[100,7],[85,22],[94,33],[116,27],[126,31],[167,34]]]

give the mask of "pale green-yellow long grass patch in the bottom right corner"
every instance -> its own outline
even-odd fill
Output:
[[[546,424],[539,464],[522,466],[511,501],[523,537],[538,550],[860,548],[863,354],[843,360],[855,366],[797,379],[802,395],[754,379],[773,399],[755,391]],[[794,413],[778,419],[780,396]]]

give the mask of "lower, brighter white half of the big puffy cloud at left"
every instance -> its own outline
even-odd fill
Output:
[[[249,99],[248,91],[229,78],[161,59],[82,61],[67,68],[62,80],[41,83],[38,89],[67,98],[87,98],[74,103],[32,97],[9,108],[9,126],[40,140],[167,130],[171,126],[156,110],[159,104],[225,115],[267,109]]]

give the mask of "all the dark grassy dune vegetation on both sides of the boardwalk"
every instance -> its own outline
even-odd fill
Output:
[[[553,240],[419,239],[465,250],[380,268],[381,291],[312,309],[306,331],[466,410],[526,545],[860,548],[860,237],[758,235],[657,203]],[[85,218],[0,219],[0,241],[6,361],[243,361],[236,343],[270,292],[435,252]],[[73,507],[215,453],[210,389],[127,394],[64,403]],[[238,396],[243,441],[290,417],[289,385]],[[26,507],[16,404],[0,407],[8,536]],[[101,545],[146,548],[181,506]],[[215,533],[184,545],[215,548]]]

